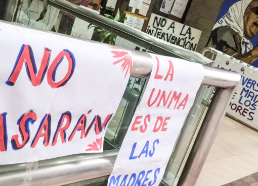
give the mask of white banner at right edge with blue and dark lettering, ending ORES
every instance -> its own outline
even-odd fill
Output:
[[[258,130],[258,69],[222,52],[218,52],[214,61],[214,67],[241,74],[241,80],[233,94],[227,113]]]

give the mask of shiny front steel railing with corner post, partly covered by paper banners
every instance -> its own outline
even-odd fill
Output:
[[[94,43],[95,41],[88,42]],[[150,54],[137,50],[131,51],[134,59],[132,76],[148,78],[153,63]],[[231,95],[240,81],[238,73],[203,67],[202,85],[220,88],[217,89],[209,106],[178,186],[195,184],[219,130],[222,116],[226,113]],[[27,169],[27,163],[4,165],[0,169],[0,185],[63,185],[106,176],[112,171],[117,152],[118,150],[112,150],[101,154],[78,154],[38,161],[34,169]]]

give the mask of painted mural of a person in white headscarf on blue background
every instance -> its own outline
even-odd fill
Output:
[[[208,46],[258,67],[257,1],[225,0]]]

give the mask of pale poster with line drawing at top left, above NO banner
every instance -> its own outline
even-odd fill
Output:
[[[48,11],[42,20],[36,21],[43,11],[44,3],[40,0],[24,0],[17,14],[17,22],[42,30],[51,30],[59,10],[48,5]]]

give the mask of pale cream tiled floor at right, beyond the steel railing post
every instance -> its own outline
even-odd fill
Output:
[[[220,186],[258,171],[258,132],[225,116],[196,186]]]

